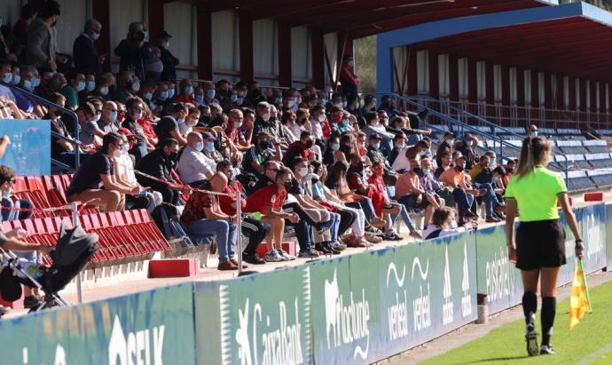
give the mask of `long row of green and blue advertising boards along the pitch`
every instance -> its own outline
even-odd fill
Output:
[[[612,262],[612,205],[576,210],[587,272]],[[370,363],[519,304],[504,226],[0,321],[7,363]],[[560,285],[571,281],[569,264]]]

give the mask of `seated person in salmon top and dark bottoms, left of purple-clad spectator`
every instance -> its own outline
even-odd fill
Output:
[[[419,172],[419,161],[411,160],[411,170],[404,172],[397,179],[396,199],[407,209],[425,210],[424,218],[427,226],[431,222],[434,210],[440,208],[440,204],[435,195],[429,194],[420,185]]]

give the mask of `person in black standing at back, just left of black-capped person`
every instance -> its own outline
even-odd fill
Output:
[[[152,57],[151,44],[145,39],[145,24],[137,21],[129,24],[128,35],[114,49],[120,57],[119,71],[131,71],[139,80],[145,79],[145,65]]]

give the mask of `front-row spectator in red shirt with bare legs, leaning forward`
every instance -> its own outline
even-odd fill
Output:
[[[247,198],[245,210],[249,213],[259,213],[263,222],[271,226],[271,237],[266,237],[268,253],[265,260],[269,262],[289,261],[293,256],[282,250],[283,233],[285,229],[285,219],[290,223],[296,224],[300,217],[295,212],[283,212],[283,204],[286,200],[285,184],[291,182],[291,173],[286,169],[276,172],[273,184],[264,186],[250,194]]]

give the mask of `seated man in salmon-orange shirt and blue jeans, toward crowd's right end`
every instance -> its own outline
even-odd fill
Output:
[[[467,223],[467,220],[478,218],[478,216],[472,211],[475,196],[480,195],[480,190],[473,189],[469,186],[466,181],[466,157],[459,156],[455,160],[455,167],[449,168],[440,175],[440,182],[444,186],[451,187],[452,196],[457,202],[459,210],[459,226],[463,226]]]

